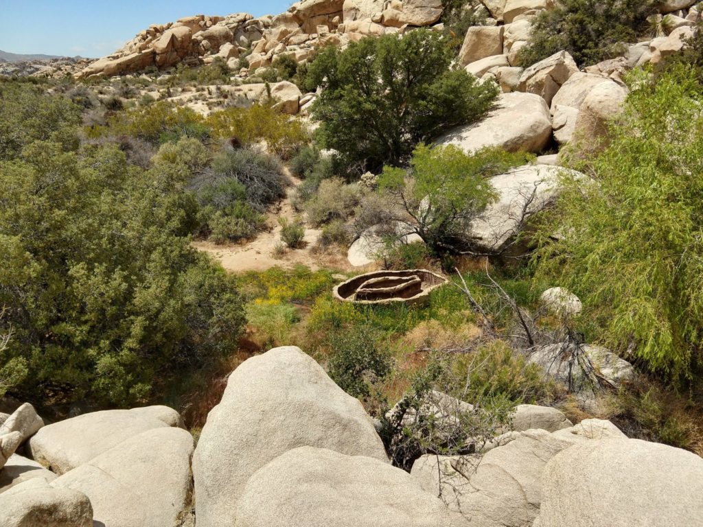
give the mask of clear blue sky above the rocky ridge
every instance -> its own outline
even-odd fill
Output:
[[[188,15],[283,13],[292,0],[0,0],[0,49],[101,57],[151,24]]]

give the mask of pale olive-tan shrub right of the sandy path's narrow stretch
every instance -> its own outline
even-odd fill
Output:
[[[308,221],[321,226],[335,219],[346,220],[361,199],[358,183],[347,185],[342,178],[321,181],[317,193],[304,205]]]

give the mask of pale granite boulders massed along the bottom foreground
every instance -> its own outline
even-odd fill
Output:
[[[399,405],[396,408],[402,408]],[[399,410],[393,410],[399,411]],[[431,392],[403,422],[475,412]],[[377,426],[300,349],[271,349],[228,378],[197,447],[165,406],[53,424],[0,414],[4,527],[701,526],[703,460],[573,426],[520,405],[477,454],[389,464]],[[192,460],[192,468],[191,468]]]

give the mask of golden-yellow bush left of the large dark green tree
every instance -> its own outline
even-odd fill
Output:
[[[307,130],[302,122],[276,112],[270,105],[226,108],[212,112],[205,122],[212,127],[214,138],[235,139],[241,145],[263,140],[271,152],[284,159],[307,142]]]

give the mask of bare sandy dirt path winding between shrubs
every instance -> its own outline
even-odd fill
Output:
[[[283,173],[288,178],[289,186],[286,188],[285,197],[266,214],[266,225],[269,230],[259,233],[257,238],[243,244],[215,245],[212,242],[193,242],[195,248],[214,256],[227,271],[241,273],[243,271],[266,271],[271,267],[291,268],[303,264],[313,270],[321,266],[345,270],[351,268],[344,254],[313,254],[311,248],[317,242],[321,230],[306,228],[305,242],[302,249],[286,249],[285,254],[276,254],[276,245],[283,245],[280,240],[280,225],[278,218],[295,219],[298,215],[292,206],[295,189],[302,183],[301,180],[290,174],[288,167]]]

